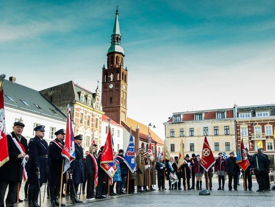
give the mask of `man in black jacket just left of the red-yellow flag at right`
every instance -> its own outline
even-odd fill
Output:
[[[237,176],[240,171],[239,166],[236,164],[235,153],[229,153],[229,158],[226,160],[226,171],[228,173],[228,189],[232,191],[232,179],[234,179],[234,190],[237,190]]]

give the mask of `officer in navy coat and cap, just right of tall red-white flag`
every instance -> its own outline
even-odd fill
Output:
[[[70,186],[70,201],[72,204],[82,203],[78,200],[76,193],[78,192],[78,186],[80,183],[84,183],[84,164],[83,164],[83,148],[81,146],[82,135],[74,137],[75,140],[75,160],[71,162],[70,174],[72,174],[73,185]],[[81,191],[81,189],[80,189]],[[80,192],[79,191],[79,192]]]

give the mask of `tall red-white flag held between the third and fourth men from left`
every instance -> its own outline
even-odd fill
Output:
[[[72,116],[71,108],[67,110],[67,125],[66,125],[66,136],[65,144],[61,155],[65,157],[64,171],[70,167],[70,163],[75,159],[74,139],[73,139],[73,128],[72,128]]]

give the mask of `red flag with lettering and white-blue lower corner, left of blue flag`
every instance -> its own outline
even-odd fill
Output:
[[[117,171],[117,164],[114,160],[113,152],[113,139],[111,137],[110,129],[104,144],[104,149],[102,151],[102,156],[100,160],[100,167],[107,173],[110,178],[113,178]]]

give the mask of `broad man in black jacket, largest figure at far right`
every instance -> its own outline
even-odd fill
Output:
[[[268,161],[263,155],[263,149],[258,149],[258,153],[254,154],[251,158],[251,165],[253,168],[259,169],[259,173],[256,174],[257,183],[259,185],[259,190],[257,190],[257,192],[266,191],[265,170],[267,164]]]

